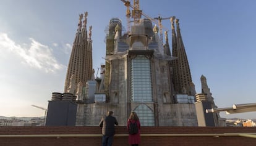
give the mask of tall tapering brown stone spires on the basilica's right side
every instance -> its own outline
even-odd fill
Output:
[[[177,34],[174,28],[174,18],[171,18],[173,57],[177,57],[173,61],[173,82],[176,94],[195,95],[195,86],[189,69],[187,54],[181,37],[181,29],[179,28],[179,19],[176,19]]]

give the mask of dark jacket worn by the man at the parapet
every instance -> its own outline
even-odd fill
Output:
[[[106,116],[101,118],[99,126],[102,127],[102,134],[104,136],[114,136],[114,124],[118,125],[114,116]]]

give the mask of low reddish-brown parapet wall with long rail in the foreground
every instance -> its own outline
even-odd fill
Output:
[[[255,128],[142,127],[139,145],[255,145]],[[117,126],[113,146],[128,145],[126,127]],[[83,126],[0,127],[0,145],[101,145],[101,128]]]

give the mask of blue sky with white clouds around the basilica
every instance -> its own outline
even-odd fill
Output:
[[[218,107],[256,102],[255,6],[254,0],[140,0],[140,9],[151,17],[179,18],[197,93],[204,75]],[[87,28],[93,26],[93,68],[97,70],[105,63],[109,19],[119,17],[126,26],[121,1],[1,0],[0,115],[44,115],[31,105],[47,108],[51,92],[63,92],[79,14],[86,11]],[[163,25],[171,30],[169,20],[163,20]],[[221,116],[256,118],[255,112]]]

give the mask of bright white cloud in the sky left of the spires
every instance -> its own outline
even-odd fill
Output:
[[[12,52],[30,67],[43,70],[46,73],[54,73],[64,67],[58,63],[53,56],[53,51],[48,46],[35,41],[33,38],[30,38],[30,41],[30,45],[22,47],[10,39],[6,33],[0,33],[0,51]]]

